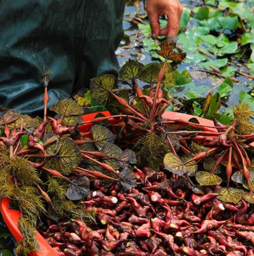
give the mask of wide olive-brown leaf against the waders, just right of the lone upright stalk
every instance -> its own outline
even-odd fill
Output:
[[[82,106],[79,106],[78,102],[71,98],[58,101],[58,103],[54,104],[49,109],[61,116],[78,116],[84,114]]]

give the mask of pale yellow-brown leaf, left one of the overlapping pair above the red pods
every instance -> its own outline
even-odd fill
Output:
[[[173,153],[167,153],[164,157],[165,169],[177,175],[184,175],[188,172],[188,166],[183,165],[181,159]]]

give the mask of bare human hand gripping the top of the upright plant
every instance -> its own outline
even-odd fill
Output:
[[[183,7],[178,0],[146,0],[146,11],[152,30],[153,39],[157,36],[177,36]],[[166,15],[168,24],[160,28],[159,18]]]

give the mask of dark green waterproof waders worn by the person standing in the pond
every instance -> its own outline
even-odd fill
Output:
[[[0,0],[0,106],[43,110],[102,73],[117,73],[123,0]]]

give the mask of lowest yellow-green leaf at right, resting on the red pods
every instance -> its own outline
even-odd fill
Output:
[[[220,188],[216,190],[216,193],[219,194],[216,198],[226,203],[238,203],[244,192],[239,188]]]

